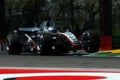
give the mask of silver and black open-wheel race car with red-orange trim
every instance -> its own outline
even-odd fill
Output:
[[[59,32],[48,21],[43,21],[40,27],[18,28],[6,39],[8,54],[35,52],[50,55],[56,51],[67,53],[69,50],[84,49],[88,53],[99,50],[100,40],[96,31],[83,32],[78,40],[72,32]]]

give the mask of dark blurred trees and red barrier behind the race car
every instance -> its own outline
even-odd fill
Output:
[[[17,27],[39,27],[45,20],[77,38],[94,29],[105,49],[120,48],[119,0],[0,0],[0,39]]]

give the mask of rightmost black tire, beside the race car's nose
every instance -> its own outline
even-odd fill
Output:
[[[87,30],[82,34],[82,47],[88,53],[99,51],[100,37],[95,30]]]

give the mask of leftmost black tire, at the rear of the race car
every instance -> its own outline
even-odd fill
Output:
[[[19,55],[22,52],[22,45],[20,45],[17,35],[8,35],[5,45],[9,55]]]

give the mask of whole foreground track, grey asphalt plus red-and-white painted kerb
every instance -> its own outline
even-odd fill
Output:
[[[71,53],[72,54],[72,53]],[[0,54],[0,80],[119,80],[119,57]]]

